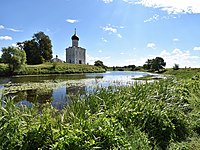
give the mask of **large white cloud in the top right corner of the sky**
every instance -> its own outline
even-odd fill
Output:
[[[199,0],[138,0],[133,4],[143,5],[145,7],[157,8],[166,11],[168,14],[199,14],[200,1]]]

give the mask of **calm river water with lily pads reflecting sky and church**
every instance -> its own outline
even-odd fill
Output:
[[[62,109],[70,97],[84,94],[95,87],[124,86],[136,82],[133,78],[147,76],[148,73],[130,71],[110,71],[106,73],[20,76],[0,78],[0,91],[7,96],[15,96],[17,104],[31,106],[32,103],[49,102]]]

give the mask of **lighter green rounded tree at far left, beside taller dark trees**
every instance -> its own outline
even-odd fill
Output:
[[[10,72],[20,69],[26,62],[26,53],[16,47],[3,47],[1,59],[4,63],[8,63]]]

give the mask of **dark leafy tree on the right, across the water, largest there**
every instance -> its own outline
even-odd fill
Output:
[[[154,59],[148,59],[145,64],[143,65],[144,69],[150,71],[159,71],[166,66],[166,62],[162,57],[156,57]]]

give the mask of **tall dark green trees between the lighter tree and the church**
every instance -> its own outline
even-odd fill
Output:
[[[41,64],[52,59],[51,40],[43,32],[33,35],[32,40],[17,43],[26,52],[27,64]]]

